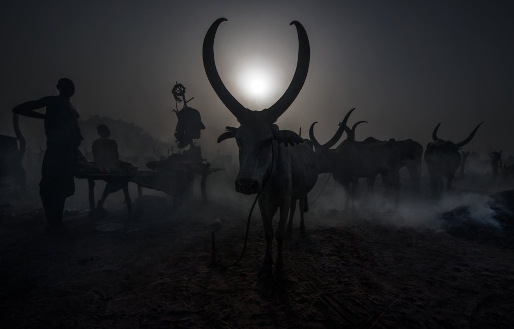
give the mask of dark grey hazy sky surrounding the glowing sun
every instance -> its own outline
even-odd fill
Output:
[[[331,137],[346,111],[367,120],[358,139],[439,136],[464,139],[485,124],[471,149],[513,152],[514,11],[509,2],[449,1],[6,1],[0,5],[2,85],[0,133],[13,135],[11,109],[56,94],[63,76],[75,81],[72,103],[82,119],[100,114],[134,122],[173,142],[175,81],[194,96],[207,130],[204,143],[236,125],[209,85],[201,61],[205,32],[227,17],[215,41],[218,70],[245,106],[274,103],[292,78],[298,51],[294,27],[311,47],[306,83],[279,119],[318,139]],[[271,92],[249,97],[241,72],[264,68]],[[22,119],[39,143],[43,124]],[[305,136],[305,135],[304,135]],[[225,142],[234,144],[231,142]]]

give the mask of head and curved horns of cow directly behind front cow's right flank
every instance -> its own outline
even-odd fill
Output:
[[[343,135],[343,132],[346,131],[348,134],[348,138],[352,138],[352,136],[355,136],[355,127],[365,121],[359,121],[354,125],[354,127],[350,130],[346,126],[346,122],[348,121],[348,118],[350,118],[350,114],[355,110],[355,108],[351,109],[346,113],[346,116],[344,117],[343,121],[339,123],[339,128],[337,129],[334,136],[325,144],[320,144],[316,137],[314,136],[314,125],[317,124],[317,122],[310,125],[309,128],[309,138],[310,141],[314,145],[314,153],[316,156],[316,168],[319,173],[322,172],[332,172],[335,165],[335,159],[333,158],[334,153],[330,151],[330,148],[334,146],[341,136]],[[353,140],[353,138],[352,138]]]

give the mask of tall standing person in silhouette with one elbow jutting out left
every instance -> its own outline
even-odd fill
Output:
[[[80,142],[79,113],[70,103],[75,85],[62,78],[57,83],[58,96],[46,96],[12,109],[25,117],[44,119],[46,152],[41,168],[40,196],[45,210],[48,233],[62,230],[64,202],[75,193],[75,170]],[[46,107],[45,114],[34,111]]]

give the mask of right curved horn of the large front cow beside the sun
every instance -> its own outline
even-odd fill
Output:
[[[298,62],[296,64],[295,75],[293,75],[291,83],[285,93],[275,104],[265,110],[268,113],[268,119],[271,123],[277,121],[280,115],[295,101],[296,96],[298,96],[300,90],[302,90],[309,70],[310,46],[307,32],[299,22],[292,21],[289,25],[293,24],[296,26],[298,33]]]

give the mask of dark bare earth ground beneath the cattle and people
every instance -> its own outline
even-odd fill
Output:
[[[235,261],[251,198],[241,199],[243,208],[227,201],[147,209],[111,233],[81,211],[65,221],[66,235],[50,237],[34,212],[39,200],[15,197],[0,202],[10,203],[0,215],[0,328],[514,326],[514,251],[433,227],[314,209],[308,237],[299,237],[297,219],[286,244],[287,281],[260,282],[258,209],[243,260],[208,266],[207,225],[224,218],[217,256]],[[87,209],[85,198],[74,206]],[[111,220],[122,218],[119,209]]]

